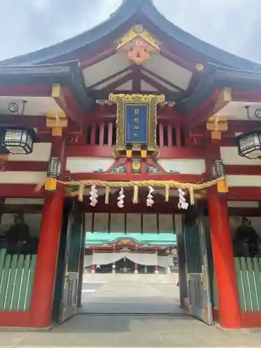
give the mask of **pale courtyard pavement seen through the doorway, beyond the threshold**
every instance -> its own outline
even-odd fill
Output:
[[[100,276],[100,275],[97,275]],[[170,278],[155,275],[84,277],[81,313],[173,314],[180,308],[179,288]],[[95,283],[97,282],[97,283]]]

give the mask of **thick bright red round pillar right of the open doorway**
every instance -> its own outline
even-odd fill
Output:
[[[219,321],[223,328],[237,329],[241,327],[241,318],[226,197],[210,193],[208,207],[219,297]]]

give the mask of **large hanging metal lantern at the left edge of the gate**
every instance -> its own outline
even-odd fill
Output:
[[[19,126],[0,126],[0,148],[8,153],[29,155],[33,152],[35,132],[31,128]]]

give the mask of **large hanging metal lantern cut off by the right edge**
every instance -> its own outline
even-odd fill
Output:
[[[236,137],[239,156],[249,159],[261,158],[261,130],[242,133]]]

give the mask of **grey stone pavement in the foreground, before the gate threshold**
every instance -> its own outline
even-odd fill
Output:
[[[49,332],[0,332],[0,347],[261,347],[261,331],[222,331],[184,315],[77,315]]]

